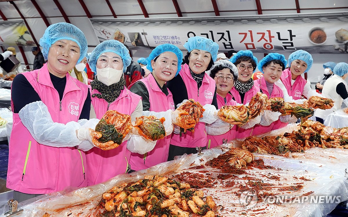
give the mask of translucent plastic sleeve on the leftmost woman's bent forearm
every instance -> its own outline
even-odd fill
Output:
[[[53,122],[47,106],[42,101],[29,103],[18,115],[23,125],[40,144],[52,147],[74,147],[80,144],[76,130],[81,125],[73,121],[66,124]]]

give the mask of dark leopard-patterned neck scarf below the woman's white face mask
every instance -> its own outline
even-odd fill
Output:
[[[97,97],[99,99],[104,99],[106,102],[111,103],[115,101],[119,95],[121,94],[121,90],[124,89],[124,86],[126,85],[126,81],[121,76],[121,79],[116,84],[111,84],[110,86],[103,84],[100,82],[96,76],[96,78],[90,82],[90,86],[92,87],[92,90],[97,90],[100,93],[93,93],[92,97]]]

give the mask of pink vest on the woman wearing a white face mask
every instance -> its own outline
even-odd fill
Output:
[[[91,91],[99,93],[97,90]],[[98,119],[102,118],[107,110],[116,110],[122,114],[130,115],[137,107],[141,97],[130,92],[125,87],[119,97],[112,103],[104,99],[92,97],[92,105]],[[103,151],[99,148],[92,148],[86,152],[88,167],[88,186],[95,185],[109,180],[118,174],[126,173],[129,169],[130,151],[127,150],[127,141],[120,144],[119,147]]]

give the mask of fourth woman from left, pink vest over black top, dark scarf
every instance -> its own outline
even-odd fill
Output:
[[[179,75],[167,82],[175,105],[185,99],[193,99],[203,106],[211,104],[217,108],[215,81],[205,71],[213,66],[219,45],[205,37],[195,36],[190,37],[184,47],[188,50],[184,57],[185,64]],[[184,153],[197,153],[196,147],[206,147],[207,143],[203,122],[196,124],[194,133],[187,131],[181,137],[173,133],[168,160]]]

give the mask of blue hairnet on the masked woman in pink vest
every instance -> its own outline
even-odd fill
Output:
[[[113,52],[121,56],[123,61],[123,72],[125,73],[132,58],[129,56],[129,51],[126,46],[117,40],[103,41],[94,48],[89,57],[89,67],[92,72],[97,72],[97,60],[100,55],[105,52]]]

